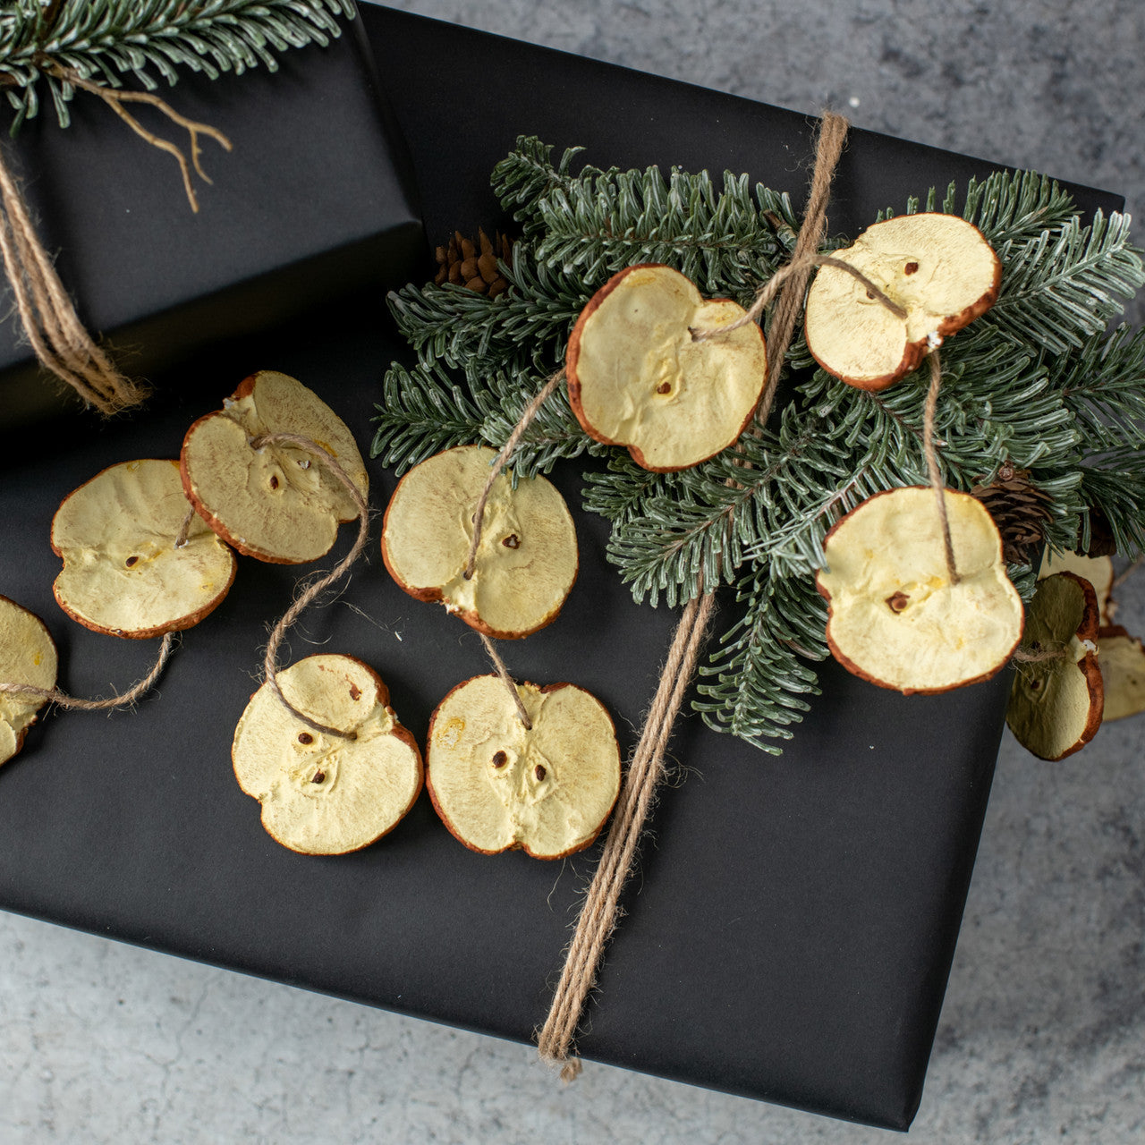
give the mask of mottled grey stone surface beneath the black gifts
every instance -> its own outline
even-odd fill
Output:
[[[1145,202],[1139,0],[397,7]],[[1145,574],[1121,598],[1145,632]],[[913,1139],[1145,1139],[1143,745],[1145,717],[1056,766],[1004,742]],[[884,1136],[602,1066],[562,1089],[522,1047],[0,915],[3,1145]]]

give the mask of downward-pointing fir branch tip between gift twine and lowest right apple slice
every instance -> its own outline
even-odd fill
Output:
[[[811,706],[804,696],[820,694],[796,649],[827,657],[827,606],[808,578],[773,577],[766,568],[743,577],[736,599],[744,611],[700,669],[714,682],[698,686],[692,706],[713,731],[777,756],[781,749],[768,741],[790,740],[791,725]]]

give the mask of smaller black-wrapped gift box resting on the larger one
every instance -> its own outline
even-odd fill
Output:
[[[202,140],[213,183],[195,180],[197,214],[174,159],[88,93],[66,129],[46,102],[7,149],[81,321],[108,335],[126,373],[153,380],[202,347],[409,277],[420,213],[361,21],[329,47],[283,53],[275,72],[184,71],[158,94],[234,145]],[[185,143],[158,111],[131,109]],[[0,324],[0,433],[78,409],[37,373],[11,316]]]

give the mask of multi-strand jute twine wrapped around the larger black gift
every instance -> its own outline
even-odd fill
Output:
[[[795,333],[812,270],[811,255],[819,248],[827,230],[827,200],[846,132],[847,121],[842,116],[831,112],[823,116],[807,210],[791,260],[800,260],[802,266],[784,276],[782,293],[772,317],[768,338],[771,368],[757,414],[760,423],[766,420],[771,411],[783,361]],[[581,1072],[579,1059],[570,1056],[572,1037],[584,1003],[595,985],[597,968],[605,943],[616,927],[621,891],[632,868],[656,787],[665,772],[664,753],[677,712],[692,680],[713,606],[714,598],[704,593],[701,587],[701,593],[684,609],[672,637],[652,709],[621,787],[600,863],[577,917],[576,931],[548,1017],[537,1036],[542,1060],[560,1068],[564,1081],[571,1081]]]

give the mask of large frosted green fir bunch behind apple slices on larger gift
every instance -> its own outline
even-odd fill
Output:
[[[743,176],[578,163],[579,149],[554,159],[522,137],[497,165],[495,190],[522,234],[512,266],[502,264],[505,294],[429,284],[392,295],[418,364],[386,376],[374,455],[387,464],[406,468],[463,442],[504,444],[563,360],[581,309],[617,270],[665,262],[704,293],[747,303],[790,256],[790,200]],[[935,443],[946,482],[969,490],[1010,463],[1047,498],[1052,548],[1087,543],[1095,510],[1119,551],[1145,548],[1145,335],[1105,332],[1145,284],[1128,219],[1085,224],[1056,182],[1029,172],[971,181],[961,195],[932,188],[906,205],[919,208],[973,222],[1003,264],[997,303],[942,347]],[[867,393],[814,369],[799,342],[788,363],[771,424],[692,469],[650,473],[591,441],[563,395],[514,455],[520,474],[585,452],[608,458],[586,472],[584,504],[610,522],[608,558],[637,600],[678,605],[731,586],[740,610],[713,642],[694,706],[768,751],[802,718],[812,665],[827,655],[813,574],[828,529],[879,490],[927,481],[929,371]],[[1009,571],[1028,599],[1035,570]]]

